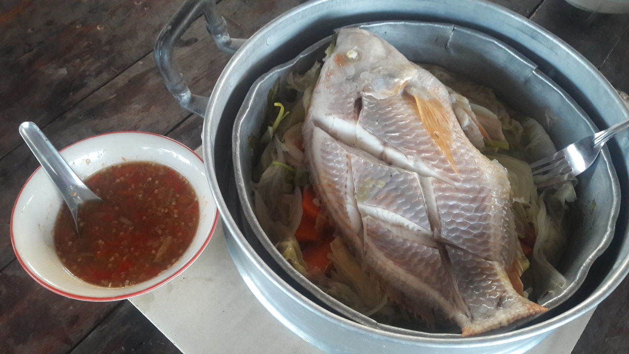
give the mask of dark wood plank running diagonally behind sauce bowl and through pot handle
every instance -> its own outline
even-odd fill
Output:
[[[225,14],[233,35],[247,37],[296,3],[296,0],[274,0],[243,6],[242,1],[226,0],[218,4],[218,8]],[[197,21],[182,38],[182,47],[175,54],[193,91],[198,93],[211,90],[230,58],[215,49],[202,21]],[[116,130],[165,134],[188,115],[164,88],[150,54],[43,131],[55,146],[63,147],[91,135]],[[26,146],[21,144],[0,159],[0,185],[7,196],[0,199],[0,210],[11,209],[19,188],[38,166],[30,155]],[[16,169],[15,166],[21,167]],[[9,216],[8,213],[0,214],[0,269],[14,257],[9,241]]]

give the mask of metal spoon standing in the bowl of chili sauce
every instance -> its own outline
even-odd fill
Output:
[[[65,162],[61,154],[50,143],[50,140],[43,135],[42,130],[33,122],[24,122],[19,125],[19,135],[31,149],[37,161],[42,164],[42,168],[50,177],[57,189],[64,197],[65,203],[70,209],[74,226],[79,232],[79,208],[89,201],[103,201],[94,194],[81,178],[77,176],[72,168]]]

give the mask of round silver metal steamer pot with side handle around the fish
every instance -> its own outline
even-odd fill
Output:
[[[171,59],[175,42],[201,14],[208,21],[208,31],[218,47],[235,52],[209,98],[191,93]],[[572,222],[576,224],[577,219],[593,220],[593,224],[579,224],[579,227],[592,227],[591,231],[595,232],[590,232],[590,237],[599,239],[596,242],[598,246],[589,248],[585,254],[582,250],[589,247],[587,244],[590,241],[577,237],[576,241],[569,243],[567,257],[574,257],[581,250],[577,259],[587,265],[565,268],[568,273],[571,269],[575,270],[572,275],[566,276],[572,277],[581,287],[566,292],[560,301],[551,299],[548,307],[554,308],[544,316],[509,328],[509,331],[472,338],[459,338],[452,334],[431,335],[379,326],[362,321],[360,317],[352,316],[333,302],[326,302],[316,294],[313,295],[313,289],[291,275],[290,270],[274,258],[268,245],[264,244],[264,239],[256,236],[255,220],[247,219],[247,205],[240,204],[237,174],[240,173],[239,187],[242,189],[242,171],[237,169],[238,173],[235,174],[231,133],[237,118],[240,119],[238,124],[243,125],[243,114],[247,113],[247,107],[251,108],[255,104],[250,91],[255,91],[255,88],[264,90],[264,77],[281,74],[281,64],[293,60],[313,43],[328,37],[335,28],[374,21],[394,24],[393,27],[387,27],[388,30],[382,30],[382,26],[378,27],[379,25],[373,23],[365,25],[372,26],[367,28],[376,32],[380,28],[384,31],[384,37],[391,35],[393,28],[403,28],[399,26],[404,23],[415,23],[416,26],[425,28],[439,28],[442,34],[444,28],[446,31],[450,28],[450,37],[456,37],[455,29],[458,28],[458,33],[480,33],[477,37],[495,38],[499,45],[505,43],[507,52],[511,50],[525,57],[522,62],[525,62],[531,76],[542,83],[542,86],[558,88],[554,91],[559,100],[557,102],[572,107],[574,116],[560,116],[560,120],[550,126],[550,135],[559,146],[591,134],[595,129],[592,122],[603,128],[629,119],[629,112],[615,89],[586,59],[535,23],[491,3],[470,0],[314,0],[282,14],[248,40],[242,40],[229,37],[225,20],[216,13],[212,0],[188,0],[160,33],[155,47],[155,59],[169,91],[184,108],[204,117],[203,157],[231,256],[248,287],[265,308],[287,328],[326,352],[416,353],[422,350],[425,353],[450,353],[456,349],[464,353],[523,353],[555,328],[596,306],[629,271],[629,239],[626,237],[624,216],[627,205],[626,201],[621,201],[621,196],[629,192],[626,188],[626,161],[629,154],[621,151],[618,144],[611,143],[610,151],[604,152],[596,167],[580,177],[577,185],[577,203],[581,203],[581,210],[586,210],[586,205],[592,200],[596,201],[597,207],[587,208],[587,212],[591,214],[584,217],[572,215]],[[417,21],[422,21],[423,24],[417,25]],[[403,33],[401,37],[404,37]],[[445,33],[442,40],[446,47],[448,43],[455,43],[450,42],[451,39]],[[412,47],[413,41],[417,39],[407,36],[406,41],[406,47]],[[487,52],[486,55],[489,63],[487,65],[501,66],[500,60],[490,60],[493,52]],[[504,60],[512,59],[504,57]],[[482,60],[479,63],[479,67],[483,65]],[[513,67],[522,67],[520,64]],[[465,71],[465,68],[460,69]],[[481,67],[479,71],[489,69],[491,67]],[[509,76],[509,73],[506,72],[505,75]],[[509,84],[513,83],[515,82]],[[545,96],[550,92],[542,86],[530,87],[533,93],[526,100],[532,100],[532,104],[520,103],[533,107],[528,108],[528,111],[526,106],[522,109],[524,113],[535,118],[540,118],[540,111],[544,108],[539,104],[544,100],[535,101],[535,95]],[[512,96],[509,101],[509,94],[501,92],[504,89],[506,87],[496,88],[499,96],[505,98],[509,105],[520,109],[518,103],[512,102]],[[530,111],[531,109],[534,111]],[[621,141],[625,147],[629,145],[626,135],[617,141]],[[616,221],[619,213],[621,217]],[[596,220],[609,222],[597,223]],[[607,246],[609,247],[603,253]],[[594,261],[597,257],[598,260]]]

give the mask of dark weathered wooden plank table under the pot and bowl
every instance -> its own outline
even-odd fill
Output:
[[[299,0],[223,0],[234,37],[248,37]],[[592,15],[564,0],[496,0],[565,40],[629,91],[629,16]],[[17,127],[32,120],[57,147],[114,130],[201,144],[199,117],[177,105],[153,64],[153,42],[181,1],[0,2],[0,353],[178,353],[127,301],[91,303],[53,294],[15,260],[14,199],[38,166]],[[177,61],[193,91],[208,92],[225,66],[198,21]],[[574,353],[629,351],[629,279],[594,313]]]

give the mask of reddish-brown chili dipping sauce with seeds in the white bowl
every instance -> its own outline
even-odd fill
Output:
[[[135,285],[167,270],[190,246],[199,202],[174,169],[123,163],[85,183],[105,202],[79,209],[80,236],[64,204],[53,231],[57,255],[81,280],[104,287]]]

